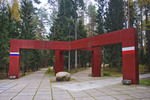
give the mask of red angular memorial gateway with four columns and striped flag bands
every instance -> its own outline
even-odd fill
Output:
[[[9,78],[19,78],[20,49],[55,50],[55,74],[63,71],[64,51],[92,51],[92,76],[101,76],[101,46],[122,44],[123,80],[139,83],[138,38],[134,28],[119,30],[71,42],[16,40],[10,41]]]

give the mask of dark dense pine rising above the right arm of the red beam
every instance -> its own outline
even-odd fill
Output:
[[[107,32],[117,31],[123,29],[124,10],[123,0],[110,0],[106,12],[105,28]]]

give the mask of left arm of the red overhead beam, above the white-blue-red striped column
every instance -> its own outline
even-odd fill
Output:
[[[69,50],[69,42],[64,41],[39,41],[39,40],[11,40],[11,52],[21,49],[48,49]]]

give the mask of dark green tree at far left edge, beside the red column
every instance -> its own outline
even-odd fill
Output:
[[[8,72],[9,64],[9,38],[8,38],[9,17],[7,6],[0,4],[0,71]]]

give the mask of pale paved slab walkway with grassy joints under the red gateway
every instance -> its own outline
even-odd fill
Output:
[[[46,68],[15,80],[0,80],[0,100],[150,100],[150,86],[122,85],[119,77],[88,77],[91,69],[56,82]],[[140,78],[150,77],[150,74]]]

